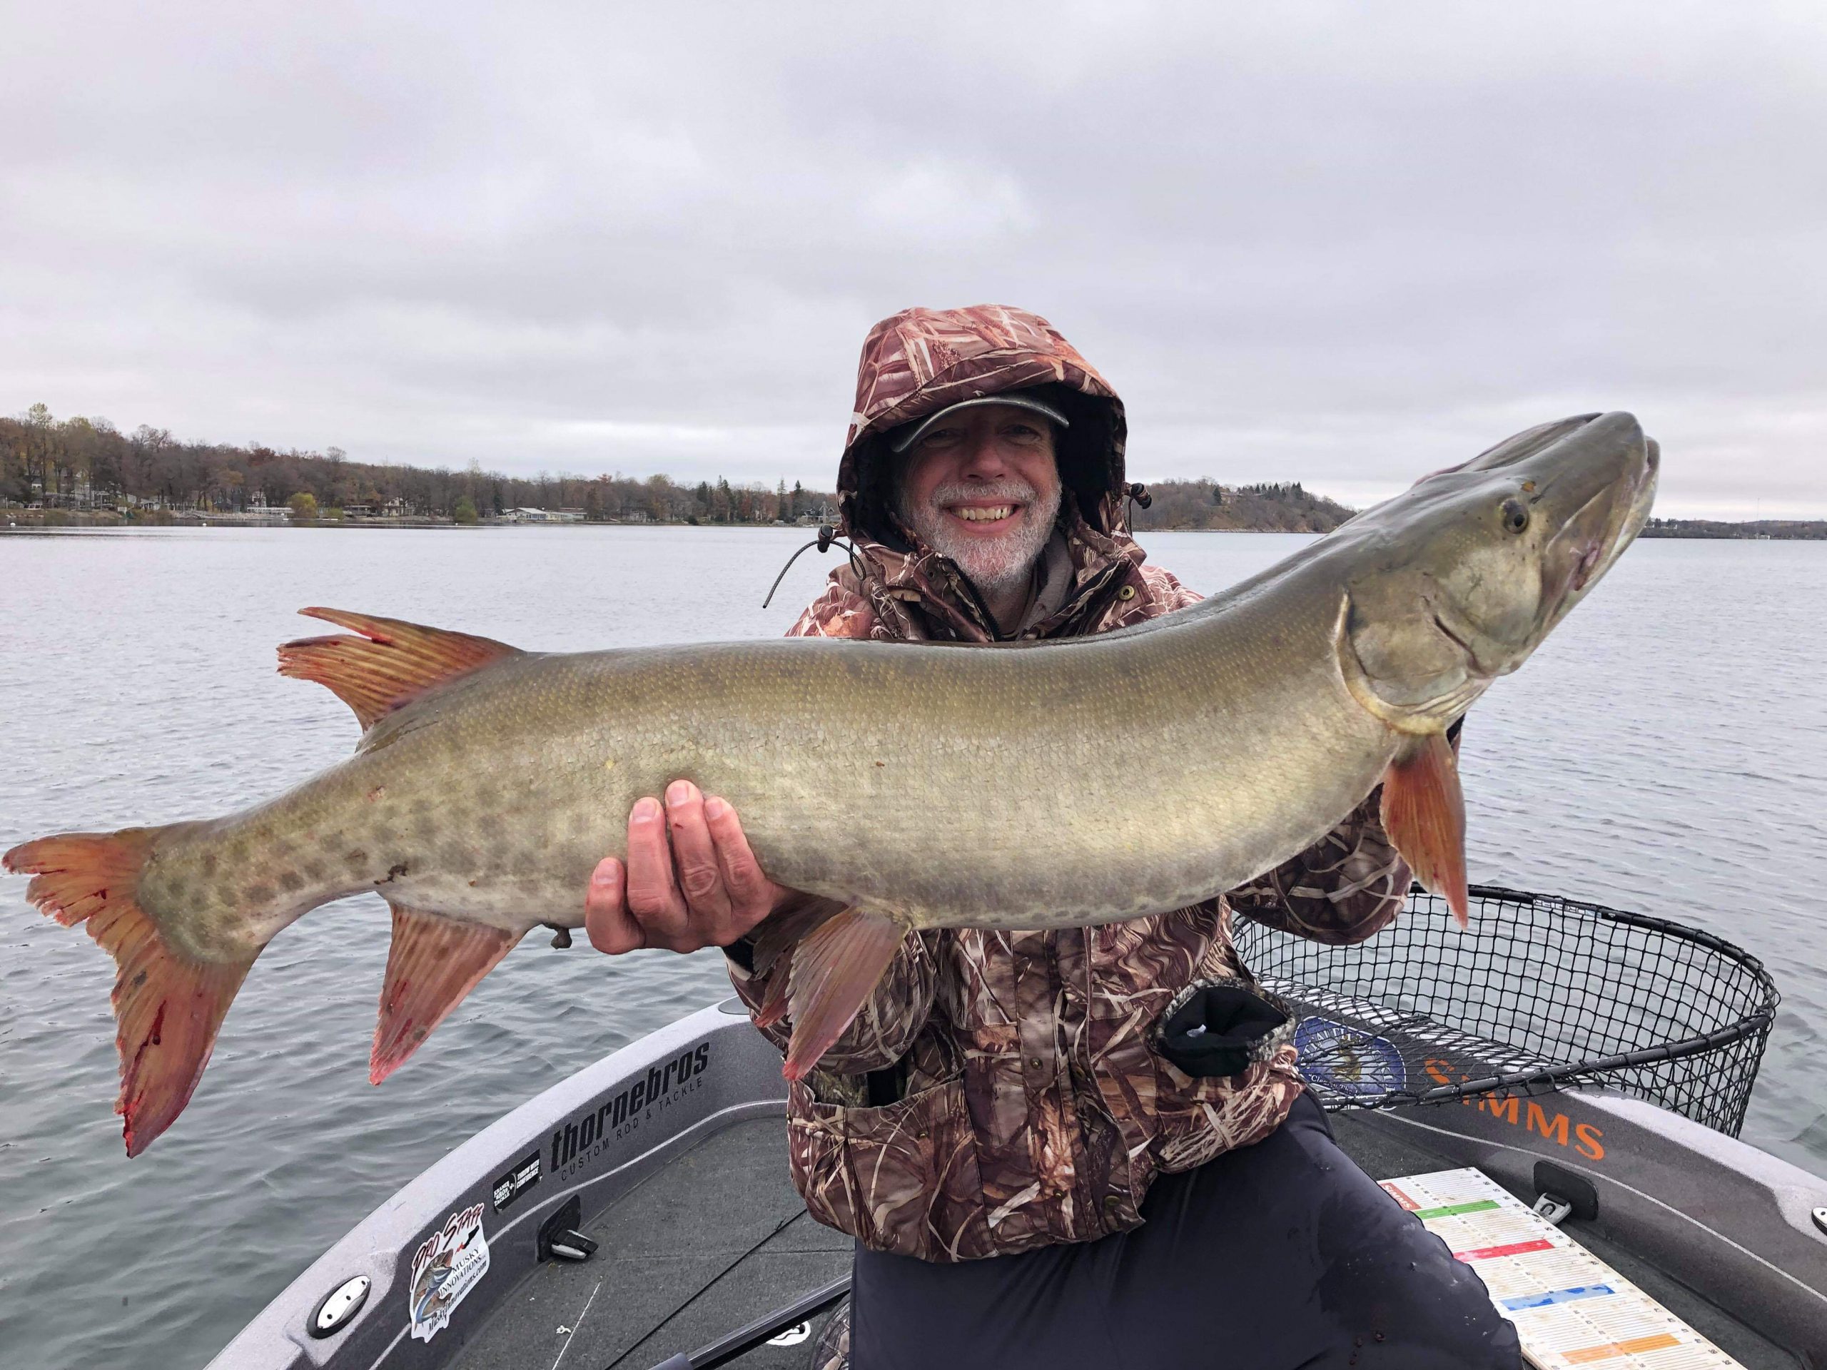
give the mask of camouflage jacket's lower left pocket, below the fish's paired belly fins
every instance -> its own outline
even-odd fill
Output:
[[[921,1260],[992,1253],[963,1076],[875,1109],[818,1103],[793,1085],[793,1184],[828,1228]]]

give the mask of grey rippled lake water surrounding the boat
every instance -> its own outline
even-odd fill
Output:
[[[532,648],[775,636],[798,530],[148,530],[0,535],[0,848],[208,817],[345,756],[349,711],[272,650],[334,605]],[[1155,533],[1219,590],[1301,546]],[[1827,1173],[1827,544],[1646,541],[1474,709],[1474,880],[1697,922],[1785,994],[1745,1138]],[[502,1111],[722,997],[714,952],[618,963],[528,937],[384,1087],[385,908],[314,912],[256,963],[188,1111],[135,1162],[106,957],[0,877],[0,1348],[195,1366],[382,1198]]]

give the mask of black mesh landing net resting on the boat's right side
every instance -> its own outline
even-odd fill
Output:
[[[1460,932],[1416,886],[1394,926],[1325,946],[1237,919],[1237,950],[1303,1019],[1326,1109],[1602,1083],[1737,1136],[1778,992],[1712,933],[1473,886]]]

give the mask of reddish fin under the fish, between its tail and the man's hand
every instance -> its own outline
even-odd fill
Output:
[[[376,1085],[404,1065],[431,1028],[526,935],[391,901],[387,908],[393,910],[393,946],[387,948],[380,1021],[367,1061],[367,1078]]]

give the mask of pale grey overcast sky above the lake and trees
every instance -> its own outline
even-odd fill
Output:
[[[1661,513],[1827,517],[1820,0],[0,20],[5,413],[828,484],[870,323],[999,301],[1140,479],[1633,409]]]

